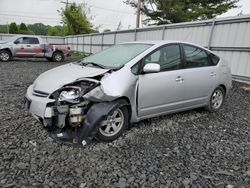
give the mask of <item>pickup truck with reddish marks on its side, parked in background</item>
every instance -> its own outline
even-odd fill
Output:
[[[43,42],[41,37],[17,35],[7,41],[0,41],[0,61],[13,57],[46,58],[48,61],[63,61],[70,53],[70,46]]]

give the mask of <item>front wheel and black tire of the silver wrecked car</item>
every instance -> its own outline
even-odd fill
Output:
[[[120,120],[118,120],[120,118]],[[117,119],[117,121],[115,120]],[[120,137],[129,124],[129,113],[127,107],[117,108],[103,122],[95,135],[99,141],[111,142]],[[115,127],[115,129],[113,128]]]

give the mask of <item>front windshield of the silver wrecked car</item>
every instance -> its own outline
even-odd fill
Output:
[[[106,68],[119,68],[151,46],[152,44],[118,44],[86,57],[82,62],[95,63]]]

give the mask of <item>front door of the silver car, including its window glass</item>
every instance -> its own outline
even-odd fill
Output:
[[[139,75],[138,116],[153,117],[183,107],[184,81],[179,44],[160,47],[143,60],[160,64],[160,72]]]

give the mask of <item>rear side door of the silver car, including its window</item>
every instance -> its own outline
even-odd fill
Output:
[[[206,50],[188,44],[182,46],[185,59],[185,106],[206,104],[217,84],[217,67],[212,63]]]

